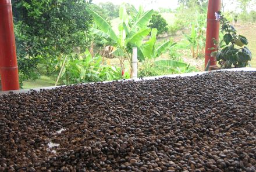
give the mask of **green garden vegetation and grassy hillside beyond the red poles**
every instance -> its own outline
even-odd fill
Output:
[[[237,1],[233,12],[223,1],[222,12],[248,38],[250,64],[256,67],[256,35],[251,34],[256,12],[248,10],[253,1]],[[175,10],[153,12],[129,3],[13,0],[20,84],[30,88],[52,86],[57,78],[58,85],[130,78],[134,46],[140,77],[203,71],[207,3],[179,0]]]

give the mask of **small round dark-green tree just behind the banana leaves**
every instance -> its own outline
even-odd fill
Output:
[[[168,24],[165,19],[159,13],[154,13],[152,19],[150,20],[150,25],[148,27],[157,28],[157,35],[161,35],[165,32],[168,32]]]

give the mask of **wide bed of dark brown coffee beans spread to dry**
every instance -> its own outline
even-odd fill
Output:
[[[256,72],[0,97],[0,171],[255,171]]]

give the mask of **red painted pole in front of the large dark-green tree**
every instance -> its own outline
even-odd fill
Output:
[[[0,0],[0,74],[2,90],[19,90],[12,3]]]

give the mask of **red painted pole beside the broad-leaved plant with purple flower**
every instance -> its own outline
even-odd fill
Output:
[[[221,0],[209,0],[207,13],[207,34],[205,46],[205,67],[210,60],[210,65],[216,65],[215,57],[211,57],[211,53],[215,50],[209,50],[211,47],[217,48],[214,45],[214,38],[219,40],[219,22],[216,21],[215,12],[221,10]]]

